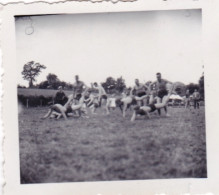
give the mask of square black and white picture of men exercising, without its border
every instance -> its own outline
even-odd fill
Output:
[[[14,20],[20,184],[207,178],[201,9]]]

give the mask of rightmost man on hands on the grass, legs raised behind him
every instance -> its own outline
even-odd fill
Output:
[[[146,117],[150,118],[150,112],[154,112],[155,110],[164,108],[170,99],[170,95],[172,94],[173,88],[174,85],[172,85],[168,95],[163,98],[162,103],[156,103],[156,104],[151,103],[148,106],[141,106],[141,107],[136,106],[134,108],[134,113],[132,115],[131,121],[134,121],[137,115],[145,115]]]

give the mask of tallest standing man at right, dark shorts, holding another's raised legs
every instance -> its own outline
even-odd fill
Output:
[[[166,85],[172,84],[172,83],[165,80],[165,79],[162,79],[161,73],[159,73],[159,72],[156,74],[156,77],[157,77],[157,81],[155,81],[153,84],[155,84],[155,87],[157,90],[157,97],[158,97],[157,103],[161,103],[163,101],[164,96],[168,95]],[[160,109],[157,109],[157,110],[158,110],[158,113],[160,115],[161,114]],[[164,110],[166,112],[166,116],[169,116],[169,114],[167,113],[167,106],[164,106]]]

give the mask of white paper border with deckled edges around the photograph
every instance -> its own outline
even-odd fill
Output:
[[[10,4],[1,10],[1,49],[3,76],[2,120],[4,128],[4,194],[205,194],[219,193],[219,144],[218,113],[215,105],[219,64],[219,2],[194,0],[138,0],[135,2],[66,2]],[[206,143],[207,179],[162,179],[109,182],[74,182],[51,184],[20,184],[19,136],[17,116],[17,72],[16,72],[16,15],[77,14],[102,12],[128,12],[149,10],[202,9],[203,63],[205,67],[206,93]],[[214,103],[215,102],[215,103]],[[13,110],[13,112],[12,112]]]

